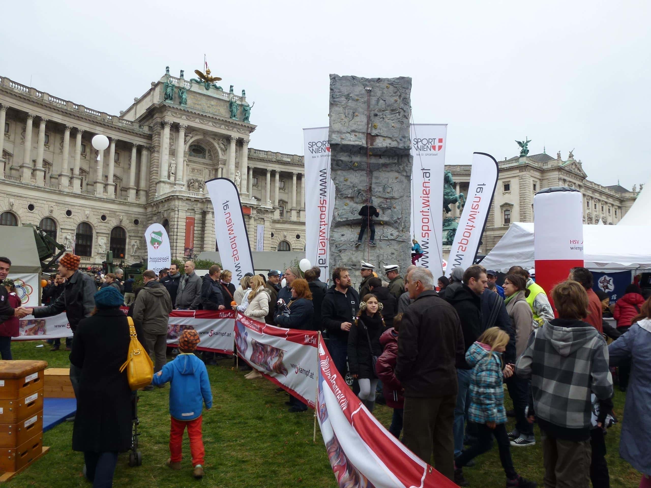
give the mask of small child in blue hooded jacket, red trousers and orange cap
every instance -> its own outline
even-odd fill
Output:
[[[204,362],[195,356],[194,351],[199,344],[199,334],[193,329],[186,329],[178,338],[180,354],[172,362],[154,375],[152,383],[163,385],[171,383],[169,390],[169,413],[172,417],[172,427],[169,434],[170,458],[167,466],[180,470],[182,459],[181,442],[183,432],[187,427],[192,454],[193,475],[203,477],[203,464],[206,452],[201,433],[203,403],[206,410],[212,407],[212,393],[208,381],[208,371]]]

